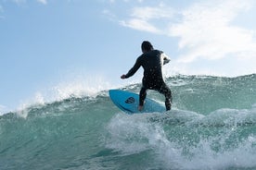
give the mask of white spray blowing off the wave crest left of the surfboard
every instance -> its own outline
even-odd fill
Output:
[[[64,79],[51,87],[36,91],[31,98],[20,102],[16,112],[21,117],[27,117],[27,108],[33,105],[59,102],[70,97],[96,97],[100,91],[116,87],[100,76],[76,76],[70,79]]]

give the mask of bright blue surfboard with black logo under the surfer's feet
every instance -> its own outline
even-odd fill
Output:
[[[118,108],[127,114],[162,113],[166,111],[165,106],[148,98],[145,100],[143,110],[139,111],[139,95],[130,91],[109,90],[109,97]]]

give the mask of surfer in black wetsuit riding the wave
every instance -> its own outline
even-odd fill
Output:
[[[143,110],[143,104],[147,96],[147,90],[159,91],[165,96],[166,110],[171,110],[172,106],[172,91],[164,82],[162,78],[161,67],[170,62],[167,55],[159,50],[154,50],[150,42],[144,41],[141,44],[142,55],[140,55],[127,74],[123,74],[121,79],[127,79],[134,75],[139,67],[144,68],[144,76],[142,79],[142,88],[139,92],[139,106],[138,110]]]

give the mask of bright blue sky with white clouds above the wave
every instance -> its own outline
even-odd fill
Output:
[[[141,79],[120,76],[144,40],[171,57],[167,76],[255,73],[255,3],[0,0],[0,114]]]

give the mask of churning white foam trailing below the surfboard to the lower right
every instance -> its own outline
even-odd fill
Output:
[[[225,112],[224,112],[225,111]],[[234,110],[223,109],[216,113],[224,112],[224,115],[233,116],[230,119],[222,120],[223,115],[210,115],[210,118],[216,118],[215,121],[220,123],[233,124],[234,117],[238,122],[244,122],[250,118],[252,112],[242,110],[243,112],[235,112]],[[176,111],[178,112],[178,111]],[[172,114],[172,113],[171,113]],[[175,115],[177,114],[177,115]],[[173,113],[171,118],[178,118],[186,121],[181,128],[191,130],[191,134],[198,135],[198,141],[189,144],[188,140],[173,139],[166,133],[164,122],[148,121],[150,115],[115,115],[106,127],[109,136],[106,140],[106,147],[122,152],[122,154],[134,154],[150,150],[155,152],[154,158],[156,163],[160,164],[163,169],[228,169],[228,168],[251,168],[256,167],[256,136],[251,134],[243,140],[239,140],[236,134],[239,135],[237,128],[221,127],[221,131],[214,132],[207,137],[197,133],[198,122],[207,121],[205,116],[186,115],[183,112]],[[187,115],[188,114],[188,115]],[[245,115],[246,114],[246,115]],[[253,114],[253,113],[252,113]],[[185,117],[188,117],[187,120]],[[240,118],[239,118],[240,117]],[[220,119],[219,119],[220,118]],[[196,120],[194,120],[196,119]],[[192,121],[191,121],[192,120]],[[214,125],[214,122],[213,125]],[[227,122],[226,122],[227,121]],[[235,121],[235,122],[237,122]],[[208,123],[211,123],[207,121]],[[206,123],[207,124],[207,123]],[[172,125],[170,125],[172,126]],[[179,125],[174,125],[172,128],[180,130]],[[209,128],[209,130],[214,128]],[[182,130],[181,132],[182,133]],[[190,133],[190,132],[187,132]],[[234,136],[235,135],[235,136]],[[186,141],[187,140],[187,141]],[[233,143],[229,143],[234,141]],[[218,149],[216,149],[216,147]]]

